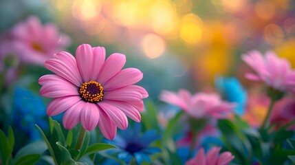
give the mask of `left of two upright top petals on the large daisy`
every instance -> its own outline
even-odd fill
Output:
[[[84,82],[89,82],[94,65],[94,54],[91,45],[82,44],[78,46],[76,50],[76,61]]]

